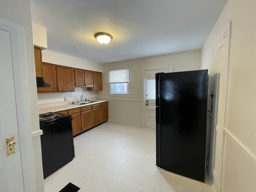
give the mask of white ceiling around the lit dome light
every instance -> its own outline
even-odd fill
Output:
[[[227,0],[31,0],[48,50],[92,61],[200,50]],[[97,32],[113,36],[102,45]]]

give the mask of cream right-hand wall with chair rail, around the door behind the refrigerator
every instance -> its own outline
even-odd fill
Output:
[[[208,68],[211,75],[215,73],[215,41],[230,20],[228,131],[225,131],[223,192],[252,192],[256,189],[255,0],[228,1],[202,49],[202,68]]]

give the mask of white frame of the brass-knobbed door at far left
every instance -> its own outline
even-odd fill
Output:
[[[32,127],[30,118],[30,102],[26,72],[26,53],[23,26],[0,18],[0,29],[8,31],[11,38],[11,53],[13,59],[13,83],[17,107],[17,122],[20,158],[23,175],[24,191],[36,191],[35,162],[33,157]],[[31,37],[32,38],[32,37]],[[31,45],[33,46],[33,44]],[[32,55],[33,57],[33,55]],[[36,89],[35,89],[36,90]],[[41,135],[41,132],[36,134]],[[35,137],[35,136],[34,136]],[[15,185],[15,181],[14,181]]]

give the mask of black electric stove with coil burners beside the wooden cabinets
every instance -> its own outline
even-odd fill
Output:
[[[71,115],[39,114],[44,178],[75,157]]]

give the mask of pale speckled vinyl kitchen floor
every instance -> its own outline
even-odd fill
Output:
[[[156,166],[155,129],[106,122],[74,138],[75,158],[45,179],[45,192],[69,182],[79,192],[213,192]]]

